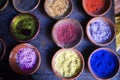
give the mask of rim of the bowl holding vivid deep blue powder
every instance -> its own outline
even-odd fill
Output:
[[[118,70],[117,70],[117,72],[116,72],[112,77],[110,77],[110,78],[105,78],[105,79],[104,79],[104,78],[100,78],[100,77],[98,77],[97,75],[95,75],[94,72],[93,72],[93,70],[91,69],[90,59],[91,59],[92,55],[93,55],[95,52],[99,51],[99,50],[107,50],[107,51],[111,52],[113,55],[115,55],[115,56],[117,57],[117,59],[118,59],[118,62],[119,62],[119,64],[118,64],[118,66],[119,66],[119,67],[118,67]],[[110,49],[110,48],[105,48],[105,47],[95,49],[95,50],[90,54],[90,56],[89,56],[89,58],[88,58],[88,61],[87,61],[87,64],[88,64],[88,69],[89,69],[90,73],[92,74],[92,76],[93,76],[94,78],[98,79],[98,80],[101,80],[101,79],[102,79],[102,80],[111,79],[111,78],[113,78],[114,76],[116,76],[116,75],[118,74],[119,70],[120,70],[120,61],[119,61],[119,56],[118,56],[118,54],[117,54],[115,51],[113,51],[112,49]]]

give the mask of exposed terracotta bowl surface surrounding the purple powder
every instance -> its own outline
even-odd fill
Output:
[[[35,61],[36,62],[35,62],[35,65],[32,69],[22,70],[20,68],[20,66],[18,66],[16,56],[17,56],[18,51],[21,48],[30,48],[30,49],[35,51],[35,55],[36,55],[36,60]],[[31,44],[28,44],[28,43],[23,43],[23,44],[17,45],[15,48],[13,48],[13,50],[11,51],[10,56],[9,56],[10,67],[12,68],[13,71],[15,71],[16,73],[18,73],[20,75],[31,75],[31,74],[33,74],[39,68],[40,62],[41,62],[41,57],[40,57],[39,51],[37,50],[37,48],[35,48],[34,46],[32,46]]]

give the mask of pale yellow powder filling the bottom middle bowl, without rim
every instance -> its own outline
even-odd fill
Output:
[[[61,51],[55,58],[55,69],[64,77],[74,77],[81,71],[81,59],[73,50]]]

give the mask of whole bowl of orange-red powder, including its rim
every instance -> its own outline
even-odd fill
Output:
[[[112,0],[82,0],[82,5],[88,15],[103,16],[110,10]]]

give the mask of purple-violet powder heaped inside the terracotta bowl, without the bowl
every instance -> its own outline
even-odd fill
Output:
[[[31,70],[36,64],[36,53],[31,48],[21,48],[17,52],[16,62],[23,71]]]

